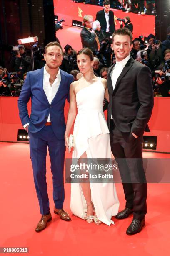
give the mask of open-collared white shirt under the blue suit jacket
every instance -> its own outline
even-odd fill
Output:
[[[55,97],[55,95],[57,93],[57,90],[59,88],[59,85],[60,85],[60,82],[61,82],[61,74],[60,74],[60,69],[58,69],[58,73],[56,75],[56,79],[55,79],[55,81],[53,82],[53,84],[51,86],[50,85],[50,81],[49,81],[50,74],[45,69],[45,66],[44,66],[44,76],[43,76],[43,89],[44,89],[44,92],[45,92],[45,94],[47,96],[47,100],[48,100],[49,104],[51,104],[51,102],[54,99],[54,97]],[[51,122],[50,114],[48,115],[47,122]],[[26,128],[26,126],[28,126],[28,125],[29,125],[29,123],[26,123],[24,125],[24,128]]]

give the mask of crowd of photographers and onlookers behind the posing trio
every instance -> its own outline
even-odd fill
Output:
[[[96,13],[95,21],[91,15],[83,17],[80,38],[82,48],[88,47],[93,51],[94,74],[107,79],[108,67],[115,63],[115,55],[111,49],[111,38],[115,31],[115,23],[114,13],[110,10],[110,1],[104,0],[102,4],[103,9]],[[125,16],[120,21],[120,27],[123,26],[133,31],[130,17]],[[79,70],[76,51],[69,44],[64,47],[64,50],[60,69],[72,74],[74,79],[77,80]],[[35,69],[45,65],[43,53],[44,50],[35,45]],[[152,33],[148,35],[147,44],[144,43],[142,36],[134,38],[130,55],[136,61],[150,68],[155,96],[170,97],[170,26],[167,29],[167,39],[163,42],[155,38]],[[31,70],[31,58],[25,51],[25,47],[18,45],[18,51],[13,51],[11,54],[10,72],[0,66],[0,95],[19,96],[29,70]]]

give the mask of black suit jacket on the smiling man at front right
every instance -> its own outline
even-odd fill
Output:
[[[130,57],[113,90],[110,76],[113,67],[114,65],[109,68],[107,78],[109,130],[112,115],[120,131],[142,135],[144,131],[150,131],[148,121],[153,109],[154,93],[150,69]]]

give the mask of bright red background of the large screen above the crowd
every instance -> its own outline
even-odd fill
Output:
[[[54,0],[54,12],[58,15],[58,19],[64,19],[63,24],[72,26],[72,20],[82,21],[82,17],[86,14],[92,15],[94,20],[96,13],[102,10],[101,6],[97,5],[85,5],[83,3],[74,3],[71,0]],[[121,10],[111,9],[114,11],[114,15],[117,18],[124,18],[129,16],[133,23],[133,37],[139,35],[148,36],[150,33],[155,34],[155,16],[153,15],[138,15],[134,13],[124,13]],[[116,28],[120,28],[120,23],[115,21]],[[59,31],[57,31],[58,33]],[[71,33],[65,35],[68,40],[72,38]]]

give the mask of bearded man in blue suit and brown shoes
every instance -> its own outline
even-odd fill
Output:
[[[65,157],[65,100],[69,100],[69,88],[73,76],[59,69],[62,47],[50,42],[45,47],[45,67],[30,71],[18,100],[20,119],[29,133],[30,158],[32,161],[35,189],[42,218],[35,231],[46,228],[51,220],[46,183],[47,147],[51,161],[53,180],[54,213],[62,220],[70,220],[63,210],[64,182],[63,169]],[[31,114],[28,115],[27,103],[31,98]]]

